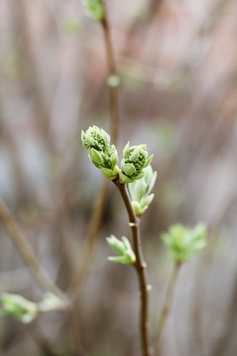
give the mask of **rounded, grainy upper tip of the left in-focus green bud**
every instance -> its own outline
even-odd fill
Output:
[[[82,143],[86,149],[95,149],[103,151],[109,147],[110,136],[103,129],[98,126],[89,126],[86,132],[82,130]]]

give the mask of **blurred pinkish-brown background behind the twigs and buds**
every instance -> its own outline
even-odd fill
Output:
[[[118,151],[128,140],[147,144],[158,172],[141,221],[153,341],[172,269],[160,232],[202,221],[208,247],[182,266],[163,354],[236,356],[237,2],[106,6],[121,77]],[[105,53],[101,24],[79,0],[0,1],[0,196],[65,292],[102,180],[80,134],[92,124],[109,130]],[[0,355],[139,355],[136,274],[107,261],[109,234],[131,237],[112,184],[74,311],[76,347],[67,313],[31,325],[1,317]],[[43,294],[0,224],[4,291],[33,301]]]

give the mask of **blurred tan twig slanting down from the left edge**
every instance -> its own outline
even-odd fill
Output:
[[[9,208],[6,206],[3,200],[0,198],[0,220],[3,223],[6,232],[8,232],[9,237],[16,246],[16,249],[21,254],[21,257],[26,262],[27,266],[31,270],[35,281],[43,288],[44,291],[50,291],[55,293],[60,298],[65,298],[64,293],[60,291],[54,281],[50,279],[47,272],[40,265],[37,256],[33,252],[31,245],[28,244],[27,239],[24,237],[21,232],[20,227],[18,226],[16,220],[11,215]]]

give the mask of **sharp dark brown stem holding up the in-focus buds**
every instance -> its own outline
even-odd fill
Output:
[[[116,187],[118,188],[123,203],[126,206],[129,218],[129,226],[131,227],[133,237],[133,249],[136,254],[135,269],[138,274],[138,283],[140,290],[140,338],[143,350],[143,356],[151,355],[151,348],[149,342],[149,321],[148,321],[148,305],[149,305],[149,286],[146,274],[146,264],[143,258],[143,250],[140,242],[140,220],[136,217],[136,214],[131,205],[131,199],[128,194],[126,184],[120,183],[118,179],[114,180]]]

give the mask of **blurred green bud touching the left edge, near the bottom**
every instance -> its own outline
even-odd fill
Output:
[[[31,323],[38,315],[38,305],[18,294],[1,294],[1,314],[11,315],[21,323]]]

